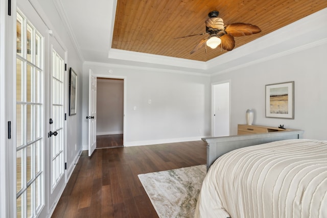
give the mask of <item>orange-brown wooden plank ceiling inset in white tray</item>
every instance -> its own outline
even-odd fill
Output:
[[[236,49],[326,7],[326,0],[118,0],[111,47],[208,61],[227,51],[207,47],[205,53],[203,46],[191,55],[205,36],[174,38],[204,33],[211,11],[219,11],[225,25],[243,22],[261,28],[261,33],[235,37]]]

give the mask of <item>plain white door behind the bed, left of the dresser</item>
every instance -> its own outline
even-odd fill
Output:
[[[212,136],[229,135],[230,94],[229,82],[212,85],[213,125]]]

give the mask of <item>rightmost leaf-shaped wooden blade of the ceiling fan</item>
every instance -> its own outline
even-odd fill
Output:
[[[225,26],[225,32],[231,36],[248,36],[260,33],[261,29],[250,23],[231,23]]]

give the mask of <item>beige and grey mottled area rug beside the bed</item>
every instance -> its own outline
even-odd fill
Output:
[[[205,165],[139,174],[158,216],[194,217],[194,210],[206,174]]]

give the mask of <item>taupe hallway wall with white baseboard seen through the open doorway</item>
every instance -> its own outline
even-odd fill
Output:
[[[124,80],[97,79],[97,135],[123,133]]]

